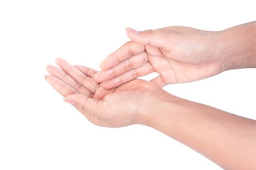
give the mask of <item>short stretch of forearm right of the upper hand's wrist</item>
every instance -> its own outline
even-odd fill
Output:
[[[256,21],[220,31],[223,71],[236,68],[256,68]]]

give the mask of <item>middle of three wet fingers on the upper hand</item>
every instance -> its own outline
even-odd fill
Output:
[[[140,54],[133,55],[127,58],[126,60],[122,61],[117,66],[111,69],[101,70],[97,72],[94,75],[93,79],[98,83],[105,82],[126,71],[143,66],[147,62],[148,62],[148,56],[147,56],[147,53],[144,51]]]

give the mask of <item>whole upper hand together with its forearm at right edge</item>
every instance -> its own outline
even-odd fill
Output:
[[[132,40],[111,53],[94,75],[105,89],[151,72],[158,86],[193,82],[236,68],[256,67],[256,21],[223,31],[172,26],[135,31]]]

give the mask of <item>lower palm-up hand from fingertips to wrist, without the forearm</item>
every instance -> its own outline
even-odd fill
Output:
[[[89,121],[105,127],[147,124],[151,110],[169,94],[157,85],[135,79],[111,90],[105,90],[91,76],[97,71],[84,66],[72,66],[63,59],[47,66],[46,80],[73,104]]]

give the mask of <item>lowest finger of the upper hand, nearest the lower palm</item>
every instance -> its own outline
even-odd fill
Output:
[[[119,85],[122,85],[126,82],[129,82],[133,79],[136,79],[137,77],[147,75],[149,73],[152,73],[154,69],[150,65],[150,63],[146,63],[143,66],[135,69],[131,69],[111,80],[108,80],[106,82],[103,82],[101,85],[105,89],[111,89],[114,87],[117,87]]]

